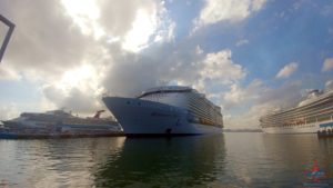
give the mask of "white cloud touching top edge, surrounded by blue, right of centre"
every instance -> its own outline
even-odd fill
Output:
[[[265,0],[206,0],[195,27],[213,24],[220,21],[241,21],[252,12],[259,11]]]

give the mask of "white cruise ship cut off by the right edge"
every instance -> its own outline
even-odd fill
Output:
[[[333,90],[312,90],[296,107],[274,111],[260,118],[269,133],[314,133],[333,122]]]

